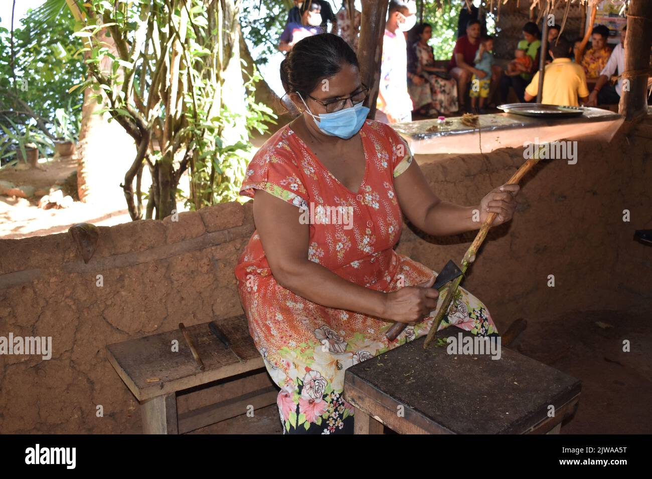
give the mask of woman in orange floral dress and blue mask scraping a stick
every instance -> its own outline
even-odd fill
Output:
[[[369,88],[339,36],[301,40],[280,76],[301,115],[246,167],[240,194],[255,198],[256,231],[235,267],[238,292],[280,387],[284,433],[352,433],[355,411],[342,396],[346,369],[423,336],[434,319],[434,272],[393,249],[403,215],[432,235],[478,229],[489,212],[499,213],[499,224],[514,212],[518,185],[478,205],[440,201],[406,142],[391,126],[366,119]],[[445,327],[496,336],[484,304],[459,291]],[[409,327],[391,341],[385,332],[395,321]]]

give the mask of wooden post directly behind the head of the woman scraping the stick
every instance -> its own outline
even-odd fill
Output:
[[[380,81],[380,63],[383,58],[383,35],[385,35],[385,17],[387,16],[387,0],[366,0],[363,2],[363,14],[358,40],[358,63],[360,75],[365,85],[368,85],[369,114],[367,118],[376,116],[376,99]],[[400,32],[399,32],[400,33]]]

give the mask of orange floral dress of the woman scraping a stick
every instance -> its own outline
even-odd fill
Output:
[[[258,188],[301,211],[312,209],[308,258],[350,282],[387,293],[426,282],[437,273],[393,250],[402,231],[394,178],[413,160],[408,145],[377,121],[367,120],[359,134],[366,166],[358,192],[341,184],[288,124],[256,152],[240,194],[254,197]],[[277,403],[284,433],[351,431],[353,407],[342,398],[346,368],[427,334],[436,313],[390,342],[385,332],[393,323],[327,308],[279,285],[258,231],[235,276],[250,334],[281,388]],[[464,289],[440,329],[451,324],[482,336],[497,334],[484,304]]]

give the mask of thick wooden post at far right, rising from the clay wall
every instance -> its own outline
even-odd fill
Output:
[[[647,114],[647,78],[652,42],[652,2],[631,0],[625,35],[625,72],[618,113],[627,121]]]

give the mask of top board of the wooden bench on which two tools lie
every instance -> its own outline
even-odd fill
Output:
[[[231,341],[231,349],[244,362],[239,362],[230,349],[224,349],[209,330],[208,323],[186,325],[205,366],[203,371],[178,329],[110,344],[106,347],[107,358],[139,401],[265,366],[249,335],[244,315],[215,319],[215,322]],[[178,352],[171,351],[173,340],[179,341]]]

